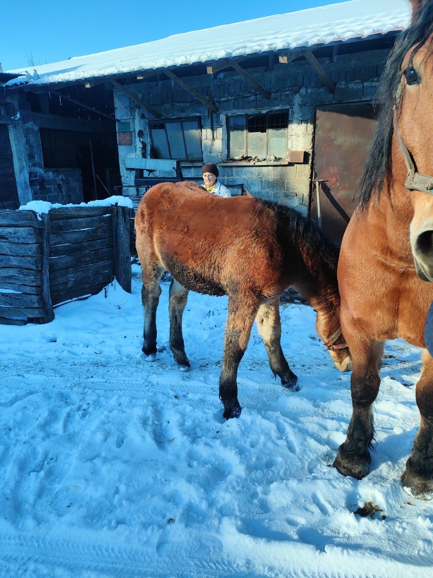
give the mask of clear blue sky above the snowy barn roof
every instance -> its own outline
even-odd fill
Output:
[[[10,0],[1,10],[3,71],[131,46],[341,0]]]

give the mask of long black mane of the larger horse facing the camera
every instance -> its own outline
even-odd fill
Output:
[[[360,209],[363,210],[376,190],[378,197],[387,175],[391,173],[391,140],[393,138],[393,106],[400,84],[400,67],[404,55],[412,48],[410,61],[433,33],[433,1],[425,0],[413,16],[412,23],[395,42],[380,78],[380,113],[374,140],[359,180]]]

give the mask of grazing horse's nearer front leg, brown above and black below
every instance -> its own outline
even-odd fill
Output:
[[[253,295],[229,297],[224,355],[219,377],[219,399],[224,405],[223,417],[239,417],[242,411],[237,399],[237,368],[247,349],[249,335],[259,302]]]

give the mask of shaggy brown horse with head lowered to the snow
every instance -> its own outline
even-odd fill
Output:
[[[274,374],[283,386],[298,390],[280,344],[279,296],[288,286],[318,312],[318,333],[337,368],[351,368],[339,328],[337,255],[295,210],[253,197],[216,197],[195,183],[160,183],[141,199],[135,228],[145,355],[156,354],[156,307],[165,269],[175,279],[169,298],[170,349],[183,368],[189,367],[182,336],[188,290],[229,296],[219,379],[226,419],[241,414],[237,369],[254,320]]]

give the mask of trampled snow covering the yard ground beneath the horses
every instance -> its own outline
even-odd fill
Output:
[[[218,399],[226,298],[191,293],[191,370],[168,347],[141,353],[133,292],[55,309],[47,325],[0,326],[0,575],[6,577],[431,576],[432,502],[400,475],[419,425],[418,351],[386,347],[376,452],[362,481],[331,467],[344,441],[350,375],[334,369],[312,309],[282,307],[283,350],[300,378],[274,381],[253,329],[243,407]],[[355,514],[371,502],[372,517]]]

